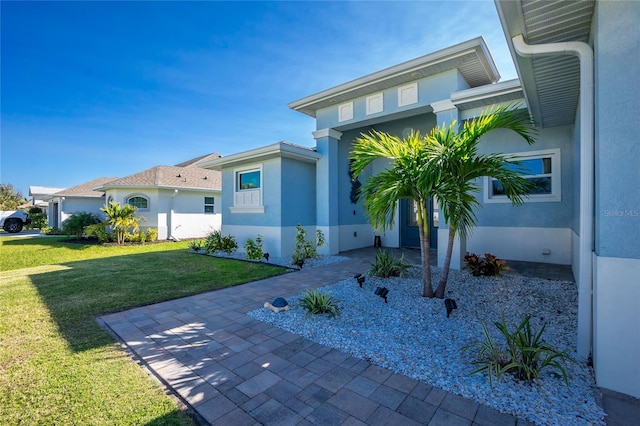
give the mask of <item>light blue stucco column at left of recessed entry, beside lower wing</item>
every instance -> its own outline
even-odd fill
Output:
[[[320,254],[337,254],[340,250],[338,227],[338,141],[342,133],[333,129],[313,132],[316,150],[322,157],[316,163],[316,229],[324,234],[326,244]]]

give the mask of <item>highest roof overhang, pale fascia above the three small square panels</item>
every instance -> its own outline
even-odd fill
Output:
[[[319,109],[456,68],[471,87],[500,79],[489,48],[477,37],[293,101],[289,108],[315,117]]]

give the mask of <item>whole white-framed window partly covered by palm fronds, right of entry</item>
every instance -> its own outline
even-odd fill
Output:
[[[560,201],[559,149],[514,154],[514,157],[520,164],[507,162],[504,167],[520,173],[533,184],[525,202]],[[485,202],[510,202],[499,180],[487,178],[485,182]]]

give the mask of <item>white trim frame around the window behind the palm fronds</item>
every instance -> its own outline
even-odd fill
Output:
[[[528,160],[534,158],[551,158],[551,194],[530,194],[524,197],[525,203],[552,203],[562,201],[562,158],[560,148],[545,149],[542,151],[525,151],[508,154],[512,160]],[[510,203],[511,201],[506,195],[490,196],[491,180],[490,177],[484,179],[484,202],[491,203]]]

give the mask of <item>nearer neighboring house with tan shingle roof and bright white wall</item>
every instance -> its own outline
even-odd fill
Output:
[[[201,238],[220,229],[220,173],[199,167],[219,158],[209,154],[175,166],[156,166],[94,189],[111,200],[138,208],[141,229],[157,228],[158,239]]]

